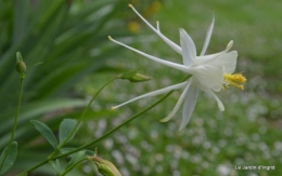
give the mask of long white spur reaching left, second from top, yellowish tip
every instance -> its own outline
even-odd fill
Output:
[[[120,42],[114,40],[112,37],[108,37],[108,39],[112,40],[113,42],[115,42],[115,43],[117,43],[117,44],[119,44],[119,45],[123,45],[123,46],[125,46],[125,48],[127,48],[127,49],[129,49],[129,50],[131,50],[131,51],[133,51],[133,52],[136,52],[136,53],[138,53],[138,54],[141,54],[141,55],[143,55],[143,56],[145,56],[145,57],[148,57],[148,58],[150,58],[150,59],[152,59],[152,60],[154,60],[154,62],[156,62],[156,63],[161,63],[161,64],[163,64],[163,65],[166,65],[166,66],[176,68],[176,69],[181,70],[181,71],[184,71],[184,72],[188,71],[188,68],[187,68],[185,66],[183,66],[183,65],[176,64],[176,63],[171,63],[171,62],[167,62],[167,60],[157,58],[157,57],[155,57],[155,56],[149,55],[149,54],[146,54],[146,53],[144,53],[144,52],[141,52],[141,51],[139,51],[139,50],[136,50],[136,49],[133,49],[133,48],[130,48],[129,45],[126,45],[126,44],[124,44],[124,43],[120,43]]]

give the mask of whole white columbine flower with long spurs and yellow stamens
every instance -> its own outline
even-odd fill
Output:
[[[216,54],[205,55],[206,49],[208,46],[211,33],[213,33],[215,18],[213,18],[213,22],[207,30],[202,52],[201,52],[200,56],[196,56],[195,44],[194,44],[193,40],[190,38],[190,36],[185,32],[184,29],[180,29],[180,46],[179,46],[176,43],[174,43],[172,41],[170,41],[168,38],[166,38],[161,32],[158,22],[157,22],[157,27],[154,28],[150,23],[148,23],[136,11],[136,9],[131,4],[129,4],[129,6],[172,50],[175,50],[176,52],[178,52],[179,54],[182,55],[183,65],[167,62],[162,58],[157,58],[155,56],[149,55],[149,54],[138,51],[133,48],[130,48],[124,43],[120,43],[120,42],[114,40],[112,37],[108,37],[108,39],[138,54],[141,54],[141,55],[148,57],[149,59],[152,59],[156,63],[176,68],[178,70],[184,71],[188,75],[192,75],[192,77],[188,81],[141,95],[141,96],[130,99],[124,104],[115,106],[112,109],[119,108],[128,103],[138,100],[140,98],[144,98],[144,97],[149,97],[149,96],[156,96],[159,94],[168,93],[169,91],[172,91],[172,90],[183,89],[183,92],[180,95],[180,97],[177,101],[177,105],[165,119],[161,120],[162,122],[166,122],[166,121],[170,120],[176,114],[176,112],[178,111],[178,109],[180,108],[182,103],[184,101],[183,103],[182,122],[180,125],[180,131],[181,131],[188,124],[188,122],[192,116],[192,112],[195,108],[198,90],[202,90],[202,91],[206,92],[208,95],[210,95],[211,97],[214,97],[217,101],[219,109],[221,111],[223,111],[225,106],[222,105],[220,99],[216,96],[215,92],[219,92],[220,90],[222,90],[225,87],[229,87],[229,85],[235,85],[243,90],[243,85],[241,85],[241,83],[244,83],[246,81],[246,79],[241,73],[232,75],[232,72],[235,70],[236,58],[238,58],[238,53],[235,51],[229,52],[229,50],[233,45],[233,41],[230,41],[228,43],[225,51],[216,53]]]

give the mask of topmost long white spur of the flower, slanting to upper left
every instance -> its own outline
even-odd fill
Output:
[[[129,8],[131,8],[136,14],[152,29],[154,30],[154,32],[156,32],[156,35],[158,37],[161,37],[171,49],[174,49],[176,52],[178,52],[179,54],[181,54],[181,48],[179,45],[177,45],[175,42],[172,42],[171,40],[169,40],[167,37],[165,37],[163,33],[161,33],[161,31],[158,29],[155,29],[149,22],[146,22],[146,19],[141,16],[137,10],[133,8],[133,5],[129,4]],[[158,27],[157,27],[158,28]]]

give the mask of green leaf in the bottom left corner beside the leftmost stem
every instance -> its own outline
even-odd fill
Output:
[[[3,162],[4,155],[5,155],[7,152],[8,152],[8,147],[5,147],[5,149],[1,153],[0,163]],[[13,141],[12,146],[10,148],[9,153],[7,154],[5,161],[4,161],[3,165],[2,165],[2,168],[0,171],[0,175],[4,174],[9,168],[11,168],[11,166],[15,162],[16,154],[17,154],[17,143]]]

